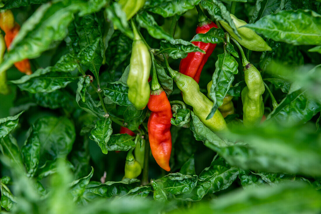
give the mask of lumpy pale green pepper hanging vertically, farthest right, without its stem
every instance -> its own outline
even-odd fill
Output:
[[[241,92],[243,124],[254,126],[260,123],[264,114],[262,94],[265,87],[260,72],[250,63],[244,67],[244,78],[247,86]]]

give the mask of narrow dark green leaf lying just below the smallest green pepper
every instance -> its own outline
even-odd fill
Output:
[[[98,186],[86,187],[85,191],[92,192],[106,198],[111,198],[115,195],[123,196],[136,187],[137,182],[139,182],[137,179],[125,178],[118,182],[108,181]]]

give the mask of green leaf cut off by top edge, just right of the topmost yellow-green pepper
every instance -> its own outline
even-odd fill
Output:
[[[164,18],[177,15],[183,15],[186,11],[194,8],[201,0],[147,0],[144,9],[156,14],[160,14]]]

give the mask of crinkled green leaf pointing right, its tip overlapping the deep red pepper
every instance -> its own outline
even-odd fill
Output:
[[[198,51],[201,53],[205,53],[205,51],[200,49],[198,46],[182,39],[160,41],[160,51],[168,53],[169,57],[173,59],[185,58],[190,52]]]

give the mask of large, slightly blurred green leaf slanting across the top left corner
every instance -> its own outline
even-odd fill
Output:
[[[55,1],[42,4],[30,18],[23,23],[19,34],[11,43],[11,50],[0,64],[0,73],[14,62],[32,59],[42,52],[52,49],[67,35],[67,26],[74,19],[74,13],[80,16],[99,11],[106,1]]]

